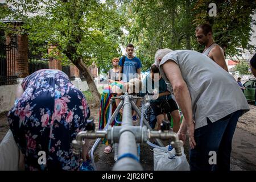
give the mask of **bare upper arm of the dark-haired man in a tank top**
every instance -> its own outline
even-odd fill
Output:
[[[228,72],[228,67],[225,62],[224,52],[220,46],[214,46],[209,53],[209,57],[211,57],[215,63],[220,65],[221,68],[225,69]]]

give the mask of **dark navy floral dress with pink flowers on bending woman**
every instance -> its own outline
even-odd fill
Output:
[[[72,140],[85,130],[90,116],[84,94],[64,72],[54,69],[32,73],[22,87],[24,93],[9,111],[8,121],[26,170],[78,169]]]

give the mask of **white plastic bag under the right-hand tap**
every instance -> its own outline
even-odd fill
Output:
[[[182,148],[182,155],[175,155],[175,148],[168,151],[168,147],[162,147],[164,150],[154,148],[154,171],[189,171],[189,164]]]

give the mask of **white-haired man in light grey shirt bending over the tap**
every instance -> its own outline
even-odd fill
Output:
[[[185,141],[188,131],[191,170],[228,171],[238,118],[250,110],[236,80],[196,51],[160,49],[155,64],[183,113],[177,134]]]

